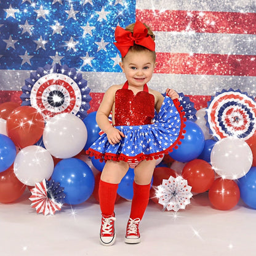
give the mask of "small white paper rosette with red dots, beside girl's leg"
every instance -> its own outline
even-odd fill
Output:
[[[168,180],[162,180],[162,185],[159,185],[156,191],[156,197],[159,199],[159,204],[164,206],[163,210],[177,212],[190,204],[190,198],[193,196],[191,188],[181,176],[176,178],[170,176]]]

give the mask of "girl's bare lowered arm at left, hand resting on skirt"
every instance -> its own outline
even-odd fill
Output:
[[[110,115],[110,112],[114,104],[115,93],[116,88],[114,86],[111,86],[106,91],[102,103],[100,103],[100,106],[96,114],[96,121],[98,127],[100,127],[100,129],[103,132],[105,132],[108,138],[108,142],[110,142],[110,144],[119,143],[121,137],[124,137],[124,134],[120,130],[114,128],[108,120],[108,116]]]

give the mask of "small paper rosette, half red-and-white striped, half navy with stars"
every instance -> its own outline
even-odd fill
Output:
[[[44,179],[42,182],[36,182],[30,191],[31,207],[35,208],[38,214],[54,215],[57,210],[62,209],[66,194],[63,193],[64,188],[60,183]]]

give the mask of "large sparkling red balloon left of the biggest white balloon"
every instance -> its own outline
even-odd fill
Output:
[[[6,121],[10,139],[19,148],[34,145],[44,132],[44,118],[32,106],[19,106],[10,113]]]

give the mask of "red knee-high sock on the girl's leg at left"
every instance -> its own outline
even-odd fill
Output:
[[[103,182],[103,180],[100,180],[98,197],[100,199],[100,210],[102,210],[103,215],[109,216],[113,214],[117,191],[118,184]]]

